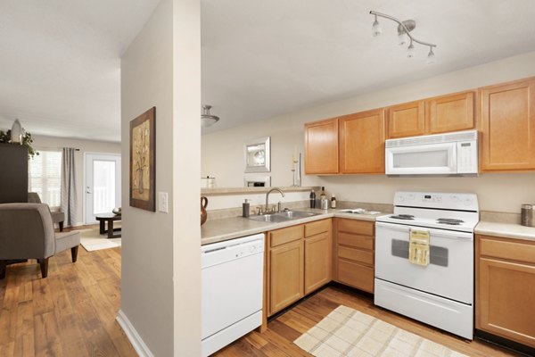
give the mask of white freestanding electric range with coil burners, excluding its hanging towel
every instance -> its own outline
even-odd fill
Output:
[[[374,303],[473,338],[473,229],[477,196],[397,192],[376,218]],[[410,231],[429,233],[429,264],[409,262]]]

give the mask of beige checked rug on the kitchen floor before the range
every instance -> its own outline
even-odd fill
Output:
[[[466,357],[343,305],[293,343],[317,357]]]

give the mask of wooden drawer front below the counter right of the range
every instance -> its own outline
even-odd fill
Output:
[[[492,237],[479,237],[481,239],[481,255],[535,264],[535,245],[515,240],[509,242]]]

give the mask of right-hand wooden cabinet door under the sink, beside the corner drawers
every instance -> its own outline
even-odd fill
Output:
[[[305,239],[305,295],[331,281],[331,234]]]

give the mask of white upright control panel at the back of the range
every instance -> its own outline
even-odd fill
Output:
[[[403,191],[396,192],[394,205],[479,212],[479,204],[475,194]]]

